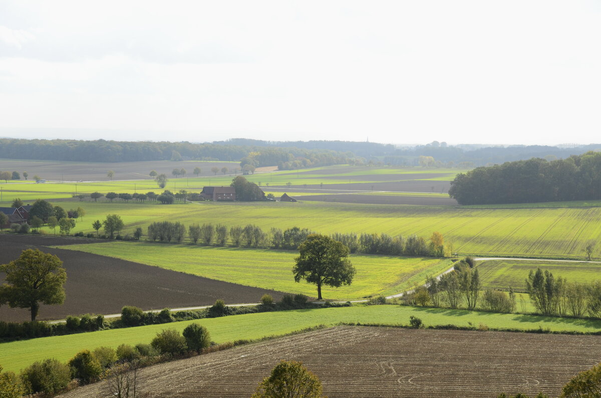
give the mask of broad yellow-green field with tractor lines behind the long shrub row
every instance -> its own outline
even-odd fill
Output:
[[[124,233],[154,221],[185,225],[210,222],[255,224],[270,228],[294,226],[331,234],[387,233],[429,238],[441,232],[459,254],[584,259],[590,241],[601,240],[601,207],[466,209],[455,207],[394,206],[300,201],[299,203],[213,203],[161,205],[156,203],[56,202],[65,209],[83,207],[84,221],[74,232],[93,233],[91,223],[107,214],[126,222]],[[46,233],[52,233],[44,227]],[[597,245],[593,257],[601,257]]]

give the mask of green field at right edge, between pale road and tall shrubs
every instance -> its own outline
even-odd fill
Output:
[[[537,262],[528,260],[487,260],[477,266],[483,287],[524,292],[525,280],[530,271],[537,268],[552,272],[555,277],[569,282],[588,283],[601,279],[600,263]]]

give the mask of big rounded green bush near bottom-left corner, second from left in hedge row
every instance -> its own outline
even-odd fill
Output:
[[[71,381],[69,366],[55,359],[35,362],[21,372],[25,390],[29,394],[56,394]]]

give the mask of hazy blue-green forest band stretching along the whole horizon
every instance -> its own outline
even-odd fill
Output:
[[[391,144],[353,141],[261,141],[234,138],[227,141],[191,142],[78,141],[73,139],[0,139],[0,158],[78,162],[131,162],[205,160],[241,162],[254,167],[278,166],[280,170],[332,164],[478,167],[504,162],[544,158],[566,159],[570,155],[601,149],[601,144],[579,147],[543,145],[426,145],[397,147]]]

